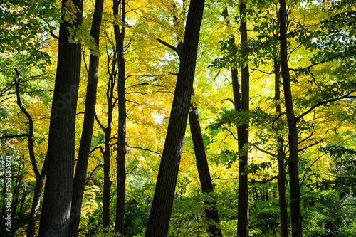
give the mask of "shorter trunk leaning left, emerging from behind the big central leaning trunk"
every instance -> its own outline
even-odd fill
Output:
[[[212,223],[209,222],[208,231],[211,236],[222,236],[221,229],[216,226],[216,224],[220,222],[219,214],[216,210],[216,197],[214,196],[213,184],[211,184],[209,165],[206,159],[204,141],[200,130],[198,110],[194,105],[192,105],[189,110],[189,125],[192,132],[195,157],[197,159],[201,191],[209,195],[209,199],[204,201],[204,205],[207,206],[205,208],[206,218],[208,221],[214,221]]]

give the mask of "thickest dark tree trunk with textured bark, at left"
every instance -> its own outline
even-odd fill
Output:
[[[68,28],[79,26],[83,1],[73,24],[63,19],[59,29],[58,63],[48,134],[48,167],[43,196],[39,236],[68,236],[73,192],[75,113],[78,100],[81,52],[79,43],[70,43]],[[66,1],[62,2],[62,12]]]

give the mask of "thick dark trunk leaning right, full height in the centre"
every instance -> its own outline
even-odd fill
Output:
[[[177,184],[179,163],[182,156],[184,133],[187,127],[190,100],[193,94],[195,64],[203,10],[204,0],[192,0],[190,2],[172,111],[169,117],[155,195],[145,234],[147,237],[164,237],[168,234],[174,190]]]

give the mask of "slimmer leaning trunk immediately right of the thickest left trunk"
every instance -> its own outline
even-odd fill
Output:
[[[90,30],[90,36],[95,40],[96,47],[99,48],[100,23],[103,16],[104,0],[95,1],[93,22]],[[91,140],[93,137],[93,125],[95,116],[96,90],[98,85],[98,67],[99,58],[95,52],[90,52],[87,93],[85,97],[85,113],[83,121],[82,136],[78,152],[77,165],[75,167],[75,176],[73,179],[72,206],[70,209],[69,236],[78,236],[80,222],[80,210],[83,201],[85,178],[88,168],[89,152]]]

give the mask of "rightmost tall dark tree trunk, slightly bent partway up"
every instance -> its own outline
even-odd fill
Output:
[[[286,28],[286,1],[280,0],[279,9],[281,33],[281,65],[283,77],[283,90],[286,103],[289,140],[289,177],[290,177],[290,215],[292,218],[292,236],[303,236],[302,215],[300,211],[300,187],[298,171],[298,130],[297,120],[293,110],[292,93],[290,89],[290,75],[288,69],[287,28]]]

